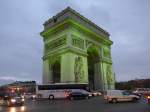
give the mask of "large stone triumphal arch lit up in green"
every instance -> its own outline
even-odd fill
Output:
[[[43,84],[87,83],[114,89],[109,34],[67,7],[44,23]]]

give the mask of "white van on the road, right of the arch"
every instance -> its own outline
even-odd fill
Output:
[[[140,97],[136,95],[132,95],[123,90],[107,90],[104,93],[104,100],[107,102],[121,102],[121,101],[137,101]]]

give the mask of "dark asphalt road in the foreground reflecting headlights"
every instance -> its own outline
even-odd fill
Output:
[[[137,103],[107,104],[102,97],[89,100],[26,101],[24,106],[0,106],[0,112],[150,112],[150,105],[142,98]]]

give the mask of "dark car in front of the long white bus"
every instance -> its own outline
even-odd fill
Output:
[[[89,99],[92,96],[92,94],[85,90],[75,90],[68,93],[67,98],[70,100],[74,99]]]

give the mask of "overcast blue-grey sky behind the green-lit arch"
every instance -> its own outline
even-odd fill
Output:
[[[39,33],[67,6],[109,32],[117,81],[150,78],[149,0],[0,0],[0,80],[42,82]]]

